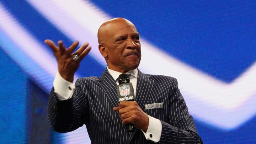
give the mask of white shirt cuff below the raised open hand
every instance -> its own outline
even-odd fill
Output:
[[[63,79],[59,74],[59,71],[54,78],[53,87],[54,92],[60,101],[71,98],[75,90],[75,85],[72,82]]]

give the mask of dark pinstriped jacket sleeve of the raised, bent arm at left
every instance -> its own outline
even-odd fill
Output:
[[[85,123],[87,98],[80,86],[82,84],[79,80],[76,82],[74,94],[68,100],[60,101],[54,88],[50,91],[47,114],[50,127],[54,131],[71,132]]]

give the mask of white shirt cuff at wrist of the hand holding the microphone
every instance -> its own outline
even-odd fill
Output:
[[[159,119],[149,116],[149,126],[146,132],[143,132],[146,140],[151,140],[155,143],[159,142],[162,133],[162,123]]]

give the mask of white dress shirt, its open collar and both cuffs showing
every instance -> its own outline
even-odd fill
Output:
[[[116,84],[118,85],[117,78],[122,73],[111,70],[108,67],[107,67],[107,70],[110,73],[110,75],[113,77],[113,79],[116,81]],[[127,74],[131,75],[130,82],[133,85],[134,96],[136,97],[138,69],[129,70]],[[53,81],[53,87],[54,87],[54,92],[60,101],[71,98],[75,90],[75,85],[72,82],[69,82],[63,79],[62,76],[59,74],[59,72],[57,72],[55,76],[55,79]],[[157,143],[160,140],[161,132],[162,132],[161,121],[149,115],[148,117],[149,117],[148,130],[146,132],[142,130],[142,132],[145,135],[145,138],[147,140],[151,140]]]

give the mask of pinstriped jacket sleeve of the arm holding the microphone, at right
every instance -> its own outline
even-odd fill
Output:
[[[185,100],[178,89],[177,80],[173,78],[172,81],[172,92],[169,99],[170,123],[161,121],[162,132],[159,144],[202,144],[203,142],[197,133],[193,117],[188,113]]]

